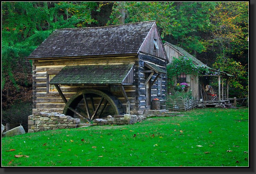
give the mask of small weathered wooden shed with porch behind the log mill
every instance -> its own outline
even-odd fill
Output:
[[[176,77],[173,77],[174,83],[173,86],[171,86],[172,89],[175,88],[177,83],[184,82],[188,85],[187,90],[192,90],[193,97],[196,97],[198,100],[201,99],[201,101],[210,101],[208,103],[212,103],[213,101],[229,102],[228,80],[231,75],[208,67],[179,46],[173,45],[169,42],[165,42],[163,45],[166,50],[169,62],[173,61],[173,57],[181,58],[186,56],[192,59],[193,64],[205,66],[209,69],[209,71],[212,72],[211,75],[200,74],[198,76],[195,74],[186,74],[185,72],[181,73]],[[218,78],[218,89],[213,89],[212,86],[209,85],[209,77]],[[226,79],[226,86],[223,86],[224,79]]]

